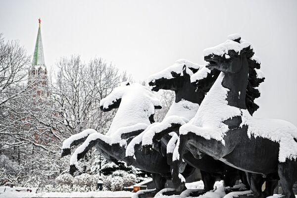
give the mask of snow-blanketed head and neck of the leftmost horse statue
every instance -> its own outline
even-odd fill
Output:
[[[149,117],[154,114],[155,108],[160,108],[157,96],[148,87],[138,83],[116,87],[106,98],[101,99],[100,106],[107,109],[116,101],[120,101],[120,104],[107,136],[111,136],[121,127],[138,123],[149,125]]]

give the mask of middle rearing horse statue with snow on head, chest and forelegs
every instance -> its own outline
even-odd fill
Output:
[[[190,77],[201,69],[209,72],[206,72],[205,75],[201,77],[202,79],[197,85],[191,83]],[[167,156],[167,163],[171,165],[172,152],[177,141],[177,134],[170,134],[173,136],[172,138],[167,134],[170,132],[178,132],[181,125],[189,122],[189,120],[195,116],[205,93],[210,89],[218,74],[219,71],[210,71],[206,69],[205,66],[199,66],[188,60],[180,59],[165,70],[150,76],[149,85],[152,86],[152,90],[158,91],[164,89],[174,91],[175,102],[170,107],[162,122],[153,123],[141,135],[131,141],[126,150],[127,157],[130,158],[130,161],[136,160],[136,157],[133,156],[134,151],[141,148],[141,144],[145,154],[150,154],[153,145],[156,150],[161,148],[160,152]],[[160,146],[157,145],[157,143],[159,143]],[[194,152],[194,154],[197,153]],[[223,162],[215,160],[208,155],[204,155],[201,159],[199,159],[199,157],[197,158],[198,159],[190,152],[184,155],[187,164],[200,169],[205,187],[205,191],[198,189],[197,192],[194,192],[191,190],[191,196],[198,196],[204,194],[206,191],[213,190],[216,179],[224,179],[225,185],[231,187],[235,184],[236,180],[239,179],[237,169],[225,165]],[[186,168],[189,168],[189,166],[186,166]],[[167,190],[166,193],[168,193],[168,191],[169,190]]]

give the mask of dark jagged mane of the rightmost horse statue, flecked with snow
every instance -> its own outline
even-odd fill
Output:
[[[236,38],[233,41],[241,43],[241,38]],[[247,80],[247,92],[246,92],[246,105],[250,115],[252,115],[258,108],[259,105],[254,102],[255,99],[260,97],[260,92],[257,89],[260,83],[264,82],[265,77],[258,75],[260,72],[261,63],[257,56],[254,55],[253,49],[248,46],[240,51],[245,53],[247,56],[248,63],[248,80]]]

